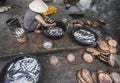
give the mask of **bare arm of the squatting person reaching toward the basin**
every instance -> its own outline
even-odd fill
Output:
[[[35,19],[38,20],[45,27],[52,27],[56,25],[56,23],[52,23],[52,24],[46,23],[45,20],[42,18],[42,16],[39,14],[35,16]]]

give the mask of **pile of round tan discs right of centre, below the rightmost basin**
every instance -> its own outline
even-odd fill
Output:
[[[86,52],[83,54],[83,59],[87,63],[92,63],[94,56],[96,56],[101,61],[109,64],[110,66],[114,66],[117,45],[117,41],[108,36],[104,40],[99,40],[96,47],[86,48]]]

